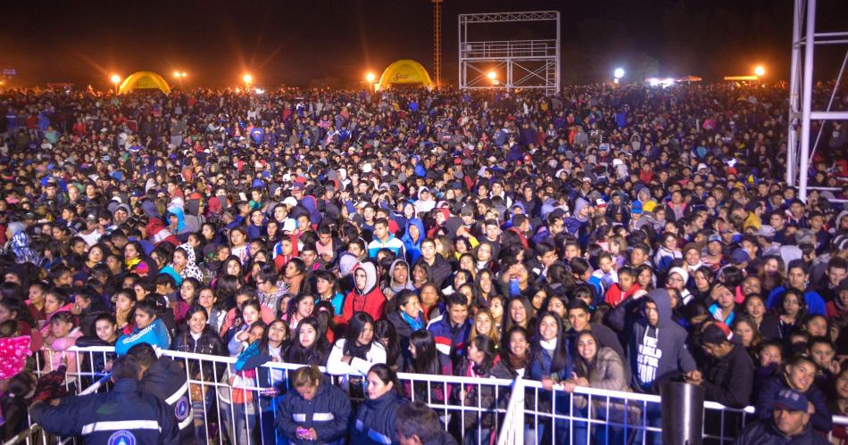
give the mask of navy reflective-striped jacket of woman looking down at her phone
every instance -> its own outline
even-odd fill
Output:
[[[277,430],[292,445],[315,443],[297,439],[297,428],[314,428],[318,433],[318,443],[345,443],[351,401],[336,385],[320,383],[312,400],[303,399],[297,391],[288,391],[279,399],[278,408]]]

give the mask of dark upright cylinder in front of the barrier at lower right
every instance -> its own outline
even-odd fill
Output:
[[[703,396],[703,388],[692,383],[670,382],[661,385],[663,444],[701,445]]]

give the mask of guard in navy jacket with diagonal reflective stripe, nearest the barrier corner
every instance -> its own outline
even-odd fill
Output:
[[[194,416],[188,392],[186,371],[169,357],[156,357],[156,350],[148,343],[138,343],[127,351],[135,358],[141,371],[139,386],[168,405],[179,430],[179,442],[195,443]]]

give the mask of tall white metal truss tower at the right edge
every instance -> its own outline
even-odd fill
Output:
[[[786,184],[795,186],[798,197],[807,200],[810,161],[827,121],[848,120],[848,111],[831,111],[836,89],[842,82],[848,51],[836,77],[826,110],[813,110],[813,85],[816,47],[848,44],[848,31],[816,32],[816,0],[794,0],[792,21],[792,66],[789,78],[789,125],[786,144]],[[811,146],[811,121],[819,120],[819,134]],[[812,148],[812,152],[811,152]]]

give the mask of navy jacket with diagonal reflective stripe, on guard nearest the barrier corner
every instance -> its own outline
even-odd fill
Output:
[[[179,429],[180,443],[191,442],[195,432],[191,424],[193,416],[186,371],[171,358],[162,356],[145,370],[139,387],[168,405],[174,416],[174,424]]]

